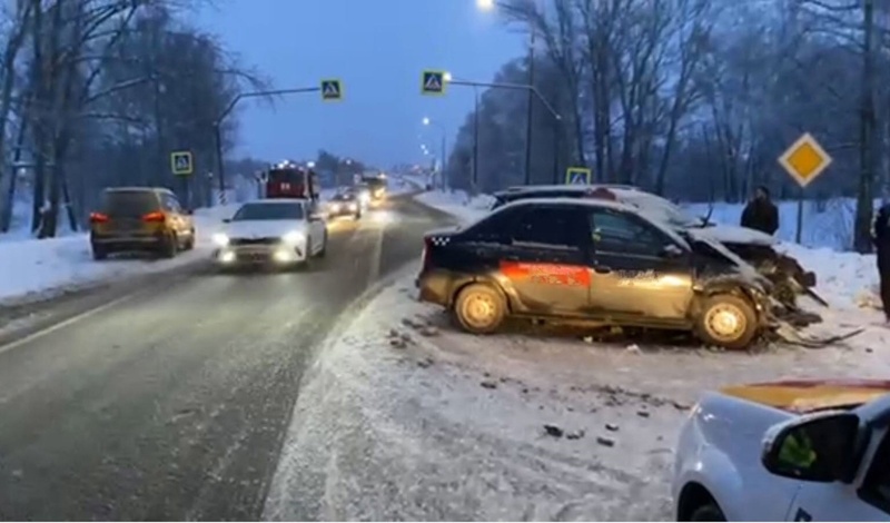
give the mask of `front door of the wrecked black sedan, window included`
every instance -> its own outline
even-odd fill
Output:
[[[593,309],[666,320],[685,318],[693,298],[686,246],[624,210],[592,209],[587,221],[593,245]]]

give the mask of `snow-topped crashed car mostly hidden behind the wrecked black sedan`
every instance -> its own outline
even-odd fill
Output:
[[[512,201],[530,198],[600,198],[636,207],[650,217],[660,218],[678,231],[690,231],[721,243],[736,256],[756,268],[773,283],[773,297],[790,309],[797,309],[797,296],[807,294],[824,304],[814,294],[815,274],[807,270],[797,259],[775,249],[774,239],[759,231],[741,227],[715,225],[706,218],[685,215],[671,201],[633,186],[517,186],[494,195],[496,209]]]

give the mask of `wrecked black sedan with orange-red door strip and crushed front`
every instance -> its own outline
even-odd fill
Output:
[[[510,315],[691,330],[739,349],[771,325],[770,283],[750,265],[623,204],[524,199],[424,243],[421,299],[475,334]]]

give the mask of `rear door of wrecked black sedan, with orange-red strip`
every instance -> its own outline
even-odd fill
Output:
[[[525,312],[584,314],[590,290],[586,240],[585,216],[576,206],[535,204],[516,216],[498,268]]]

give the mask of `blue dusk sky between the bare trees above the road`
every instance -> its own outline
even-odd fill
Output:
[[[478,12],[475,0],[218,0],[199,19],[276,88],[344,82],[339,103],[317,95],[283,98],[275,109],[243,102],[238,152],[269,160],[319,148],[383,166],[419,160],[418,135],[435,151],[441,141],[423,117],[442,121],[451,141],[473,107],[466,87],[421,96],[421,71],[488,81],[524,50],[524,37]]]

